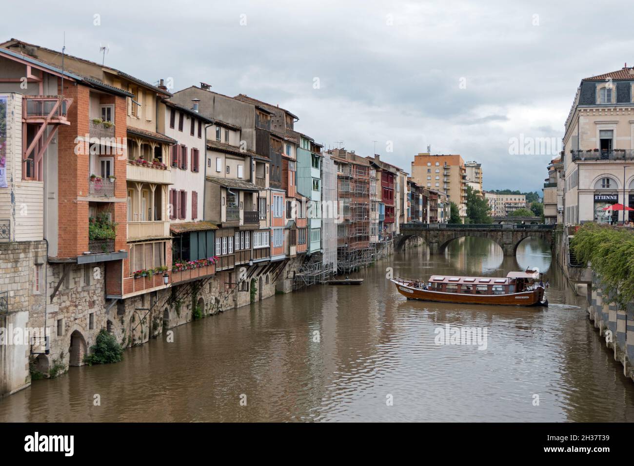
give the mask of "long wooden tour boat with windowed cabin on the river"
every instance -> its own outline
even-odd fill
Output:
[[[489,276],[432,275],[427,282],[410,278],[392,278],[396,289],[407,299],[455,302],[458,304],[495,304],[500,306],[548,306],[538,271],[509,272],[505,278]]]

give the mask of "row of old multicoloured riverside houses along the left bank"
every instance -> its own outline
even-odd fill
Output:
[[[299,117],[200,83],[0,44],[0,394],[198,316],[323,282],[391,252],[446,195],[380,156],[324,150]],[[6,337],[6,335],[5,335]]]

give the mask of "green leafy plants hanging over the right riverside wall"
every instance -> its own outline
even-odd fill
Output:
[[[592,264],[609,302],[624,309],[634,299],[634,235],[630,231],[586,223],[570,247],[579,260]]]

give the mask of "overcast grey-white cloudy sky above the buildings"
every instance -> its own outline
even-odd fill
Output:
[[[6,17],[21,8],[3,4]],[[65,32],[70,55],[101,61],[107,44],[106,65],[145,81],[278,104],[327,148],[376,146],[409,171],[430,145],[481,162],[485,189],[541,193],[552,154],[510,153],[510,141],[560,139],[579,81],[634,65],[633,11],[629,0],[65,1],[3,31],[58,50]]]

